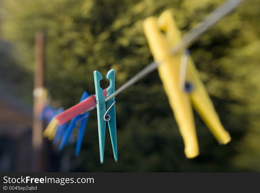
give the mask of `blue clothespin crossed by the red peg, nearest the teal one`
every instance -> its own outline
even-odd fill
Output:
[[[80,102],[85,100],[87,97],[88,97],[88,93],[87,92],[84,92],[82,94],[82,97],[80,99]],[[75,151],[75,155],[77,156],[79,154],[79,151],[80,151],[80,147],[81,147],[81,144],[82,144],[82,139],[83,139],[83,136],[84,136],[84,132],[85,132],[85,128],[86,128],[86,125],[87,125],[87,120],[88,120],[88,116],[89,116],[89,113],[90,112],[86,112],[86,113],[83,113],[81,115],[78,115],[76,117],[74,117],[67,130],[66,130],[66,133],[61,141],[61,144],[59,146],[59,150],[63,149],[63,147],[65,146],[67,140],[69,139],[73,129],[77,126],[77,123],[79,122],[80,123],[80,126],[79,126],[79,132],[78,132],[78,139],[77,139],[77,144],[76,144],[76,151]]]

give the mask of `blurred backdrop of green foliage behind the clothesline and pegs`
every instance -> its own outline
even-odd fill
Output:
[[[232,140],[220,146],[194,111],[200,154],[186,159],[157,71],[116,97],[118,161],[107,129],[100,164],[96,110],[82,149],[44,140],[32,147],[35,32],[45,34],[45,87],[56,108],[95,93],[93,71],[113,68],[119,88],[153,58],[142,22],[170,9],[182,34],[219,0],[0,0],[0,171],[235,172],[260,171],[260,1],[244,1],[189,49]],[[106,88],[108,82],[102,83]],[[37,163],[34,163],[37,162]]]

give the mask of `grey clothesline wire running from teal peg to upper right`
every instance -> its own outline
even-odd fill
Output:
[[[221,6],[217,7],[214,11],[211,12],[200,24],[191,29],[171,50],[172,55],[178,53],[184,48],[189,47],[196,39],[198,39],[202,34],[204,34],[210,27],[217,23],[220,19],[228,15],[233,11],[243,0],[228,0],[223,3]],[[118,88],[114,93],[108,96],[105,99],[105,102],[114,98],[116,95],[121,93],[123,90],[129,86],[136,83],[145,75],[157,69],[161,62],[154,61],[147,65],[144,69],[138,72],[134,77],[128,80],[124,85]]]

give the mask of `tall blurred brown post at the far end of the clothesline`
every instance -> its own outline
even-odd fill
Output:
[[[47,101],[47,90],[44,88],[44,33],[35,33],[35,76],[33,90],[33,128],[32,128],[32,171],[46,171],[45,162],[48,160],[44,156],[45,143],[43,140],[43,121],[40,114]]]

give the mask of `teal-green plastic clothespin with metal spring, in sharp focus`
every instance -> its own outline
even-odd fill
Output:
[[[106,78],[109,79],[109,87],[107,88],[107,96],[115,92],[115,70],[108,71]],[[94,71],[94,82],[97,100],[97,113],[98,113],[98,138],[99,138],[99,153],[100,162],[104,160],[104,147],[105,147],[105,128],[108,122],[114,159],[117,161],[117,142],[116,142],[116,107],[115,97],[105,102],[104,90],[100,87],[100,80],[103,77],[98,71]],[[109,113],[109,114],[108,114]]]

